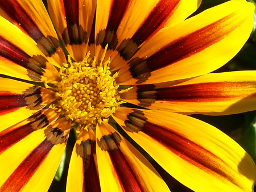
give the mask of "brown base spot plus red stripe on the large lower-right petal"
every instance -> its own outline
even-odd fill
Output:
[[[155,142],[160,143],[164,148],[168,148],[180,158],[183,158],[185,161],[188,161],[205,172],[225,178],[235,185],[238,185],[228,172],[228,169],[226,169],[229,165],[201,145],[189,140],[188,137],[171,130],[171,127],[167,128],[148,122],[144,113],[139,110],[134,110],[134,112],[127,115],[127,118],[129,120],[126,120],[126,122],[137,127],[137,130],[150,136]],[[123,128],[126,130],[125,126],[123,126]]]

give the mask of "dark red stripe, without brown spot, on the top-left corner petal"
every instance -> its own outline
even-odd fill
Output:
[[[42,39],[43,34],[31,19],[30,14],[15,0],[1,0],[0,7],[11,19],[15,20],[35,41]]]

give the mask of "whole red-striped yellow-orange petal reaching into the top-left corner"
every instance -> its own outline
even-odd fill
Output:
[[[51,57],[60,65],[65,62],[57,34],[42,1],[3,0],[0,5],[0,15],[28,34],[45,56]]]

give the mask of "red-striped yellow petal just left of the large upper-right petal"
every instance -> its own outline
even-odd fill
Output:
[[[197,0],[151,0],[147,3],[143,0],[131,1],[126,7],[123,18],[120,18],[121,22],[114,23],[119,24],[116,31],[119,46],[117,51],[111,55],[112,70],[125,65],[127,60],[131,59],[131,56],[141,47],[141,44],[148,41],[156,32],[185,20],[200,3],[201,1]],[[109,21],[112,23],[112,19]],[[106,30],[110,28],[107,27]]]

